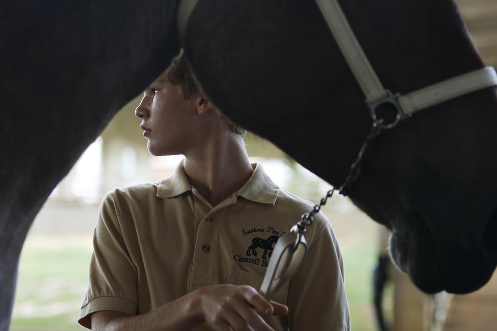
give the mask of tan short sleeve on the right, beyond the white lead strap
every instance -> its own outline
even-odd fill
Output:
[[[287,305],[291,331],[348,331],[350,314],[343,281],[343,261],[328,219],[289,286]]]

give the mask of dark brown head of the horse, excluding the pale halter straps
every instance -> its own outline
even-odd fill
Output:
[[[340,186],[371,119],[318,7],[220,2],[199,1],[187,27],[203,88],[237,123]],[[393,92],[484,67],[452,0],[339,2]],[[426,292],[474,291],[496,267],[496,132],[494,88],[445,102],[379,135],[351,187],[352,201],[392,230],[393,259]]]

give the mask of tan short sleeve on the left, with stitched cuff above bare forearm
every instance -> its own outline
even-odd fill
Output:
[[[137,271],[126,249],[115,200],[109,193],[100,204],[93,235],[89,285],[78,323],[91,329],[90,315],[114,310],[137,314]]]

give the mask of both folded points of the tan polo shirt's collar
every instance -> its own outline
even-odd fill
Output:
[[[237,196],[254,202],[274,205],[278,198],[279,187],[269,178],[262,165],[252,163],[252,168],[254,168],[252,175],[237,192]],[[181,161],[169,177],[159,182],[157,197],[169,199],[191,190],[192,186],[186,178],[183,161]]]

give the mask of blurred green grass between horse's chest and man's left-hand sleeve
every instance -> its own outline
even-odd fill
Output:
[[[76,319],[87,285],[91,249],[50,247],[50,239],[46,238],[47,247],[37,244],[23,249],[12,331],[84,330]]]

